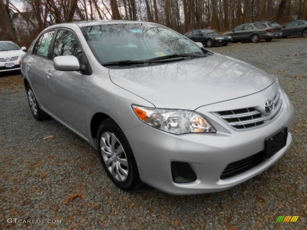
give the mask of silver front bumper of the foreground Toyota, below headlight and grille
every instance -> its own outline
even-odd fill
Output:
[[[282,100],[281,111],[273,121],[244,131],[227,127],[213,115],[209,117],[210,123],[223,126],[215,126],[215,134],[173,135],[145,124],[126,130],[142,181],[169,194],[203,194],[229,189],[261,173],[286,153],[292,141],[290,132],[286,146],[269,159],[231,178],[220,178],[229,163],[262,151],[266,137],[283,126],[291,130],[293,106],[285,93]],[[175,183],[171,173],[173,161],[189,163],[197,179],[190,183]]]

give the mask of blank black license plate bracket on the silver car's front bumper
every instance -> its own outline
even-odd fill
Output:
[[[270,158],[283,147],[286,146],[288,136],[288,128],[283,127],[273,135],[264,140],[264,157]]]

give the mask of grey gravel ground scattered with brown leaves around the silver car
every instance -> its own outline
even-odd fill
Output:
[[[18,73],[1,76],[0,227],[306,229],[306,47],[306,38],[290,38],[211,48],[277,75],[296,119],[290,150],[270,169],[230,190],[204,195],[172,196],[150,186],[123,192],[84,140],[53,119],[32,117]],[[276,223],[278,216],[299,218]],[[35,223],[8,223],[8,218]]]

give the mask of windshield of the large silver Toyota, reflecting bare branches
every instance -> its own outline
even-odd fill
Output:
[[[101,64],[181,54],[205,56],[208,52],[184,36],[153,23],[104,24],[81,29]]]

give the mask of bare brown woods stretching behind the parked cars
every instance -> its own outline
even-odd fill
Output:
[[[307,18],[306,0],[20,0],[21,7],[14,2],[0,0],[0,39],[28,44],[50,25],[80,20],[152,21],[186,33],[208,27],[227,31],[252,21],[283,24]]]

